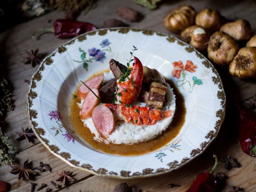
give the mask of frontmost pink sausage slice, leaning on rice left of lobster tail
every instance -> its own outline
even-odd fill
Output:
[[[108,138],[108,136],[114,131],[115,127],[115,120],[112,111],[105,105],[97,105],[93,109],[91,116],[98,133],[103,138]]]

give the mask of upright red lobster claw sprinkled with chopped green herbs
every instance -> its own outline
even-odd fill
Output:
[[[132,104],[134,103],[139,93],[143,81],[143,66],[137,57],[134,57],[134,63],[130,75],[125,81],[117,79],[117,87],[115,92],[116,104]]]

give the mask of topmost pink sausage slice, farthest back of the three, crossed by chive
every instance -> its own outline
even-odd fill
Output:
[[[104,75],[99,75],[99,76],[96,76],[94,78],[91,78],[91,79],[88,79],[87,81],[85,81],[84,83],[90,87],[90,89],[92,88],[97,88],[99,89],[100,86],[101,86],[101,83],[104,79]],[[85,98],[85,96],[87,95],[87,93],[89,93],[89,89],[85,86],[85,85],[81,85],[78,89],[78,93],[77,93],[77,97],[78,99],[82,100]]]

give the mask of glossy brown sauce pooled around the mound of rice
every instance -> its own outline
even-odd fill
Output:
[[[80,100],[74,99],[73,97],[70,100],[70,121],[76,133],[82,137],[92,148],[98,151],[103,151],[108,154],[113,155],[143,155],[146,153],[150,153],[152,151],[156,151],[159,148],[168,144],[173,138],[178,135],[180,129],[182,128],[185,122],[186,116],[186,107],[185,101],[182,94],[176,88],[176,85],[172,81],[167,81],[171,87],[173,88],[173,92],[176,95],[176,111],[174,114],[173,122],[171,123],[171,127],[167,128],[161,135],[158,137],[147,141],[141,142],[139,144],[133,145],[125,145],[125,144],[104,144],[104,142],[98,142],[94,140],[94,134],[91,133],[89,128],[83,126],[83,122],[80,120],[79,112],[80,108],[76,104],[76,102],[80,102]],[[74,92],[76,95],[78,88]]]

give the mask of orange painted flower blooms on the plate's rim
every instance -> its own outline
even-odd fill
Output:
[[[197,68],[197,66],[194,65],[192,61],[187,61],[185,68],[182,61],[173,62],[173,66],[174,70],[172,71],[172,76],[178,79],[180,78],[180,74],[182,73],[182,71],[186,70],[193,73],[196,71],[195,68]]]

